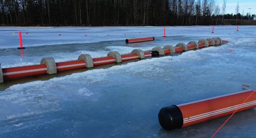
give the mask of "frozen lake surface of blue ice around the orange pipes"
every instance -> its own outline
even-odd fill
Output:
[[[12,85],[0,91],[0,137],[210,137],[228,118],[165,131],[165,106],[256,88],[256,26],[0,28],[2,68],[106,56],[221,37],[220,47]],[[23,32],[21,56],[18,31]],[[27,33],[27,34],[26,34]],[[125,38],[155,36],[125,44]],[[230,52],[233,50],[233,52]],[[0,84],[0,88],[4,84]],[[256,109],[236,113],[216,137],[256,137]]]

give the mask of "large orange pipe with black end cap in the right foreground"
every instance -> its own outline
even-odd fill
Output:
[[[246,90],[232,94],[207,98],[181,105],[163,107],[158,113],[160,125],[166,130],[179,129],[204,121],[216,119],[237,112],[256,107],[256,93],[246,98],[253,90]]]

